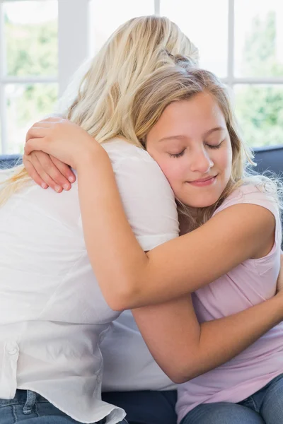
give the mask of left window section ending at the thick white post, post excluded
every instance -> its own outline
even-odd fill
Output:
[[[28,126],[57,100],[57,1],[2,2],[0,38],[1,150],[16,153]]]

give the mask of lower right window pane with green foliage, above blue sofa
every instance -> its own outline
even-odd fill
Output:
[[[250,146],[283,144],[283,86],[238,85],[236,114]]]

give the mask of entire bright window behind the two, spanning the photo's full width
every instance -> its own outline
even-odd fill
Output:
[[[283,143],[282,0],[0,0],[0,153],[22,151],[29,126],[118,25],[154,13],[233,90],[248,143]]]

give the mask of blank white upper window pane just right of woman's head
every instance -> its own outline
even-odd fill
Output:
[[[227,75],[228,1],[161,0],[161,16],[177,23],[200,49],[200,66]]]

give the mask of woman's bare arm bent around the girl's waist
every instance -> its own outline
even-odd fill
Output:
[[[279,324],[283,295],[203,324],[197,322],[190,295],[132,313],[158,365],[183,383],[231,360]]]

